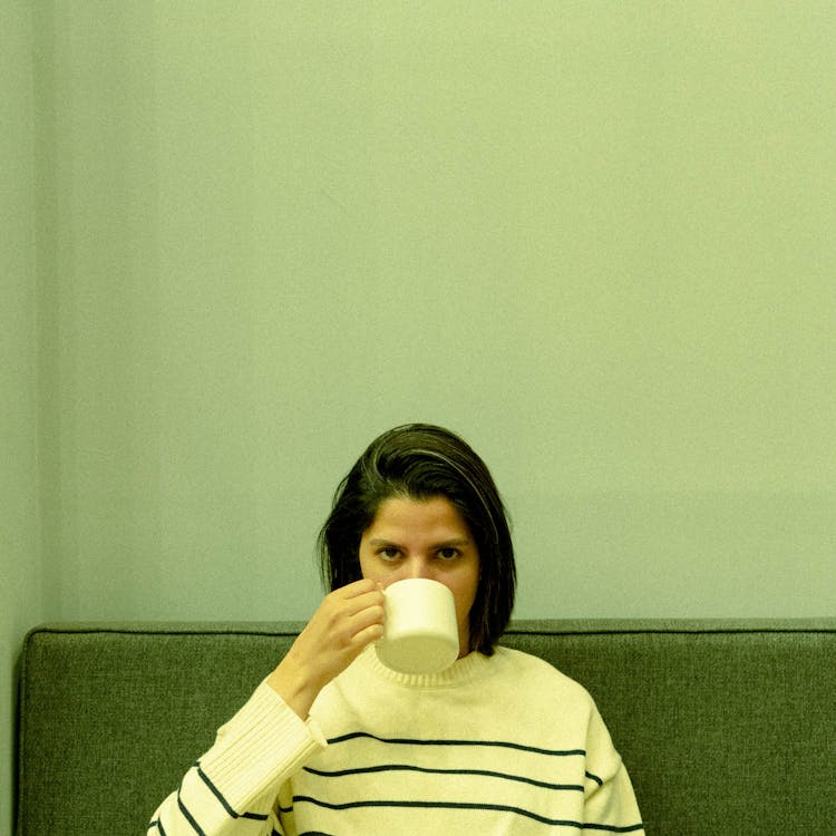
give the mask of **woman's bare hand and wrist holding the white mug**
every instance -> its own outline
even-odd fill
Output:
[[[270,674],[268,684],[303,720],[322,688],[383,635],[383,600],[370,580],[334,590]]]

